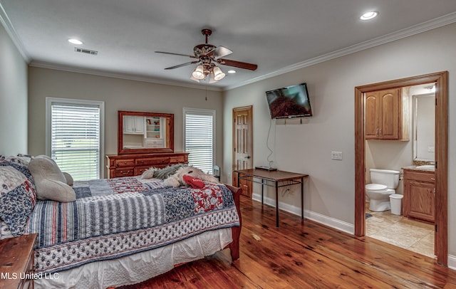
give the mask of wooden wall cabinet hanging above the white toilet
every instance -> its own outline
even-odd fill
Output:
[[[408,140],[408,111],[400,88],[366,93],[366,140]]]

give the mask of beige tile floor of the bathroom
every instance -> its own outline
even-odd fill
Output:
[[[372,215],[366,219],[366,236],[435,258],[432,224],[409,220],[391,211],[371,211],[369,203],[366,214]]]

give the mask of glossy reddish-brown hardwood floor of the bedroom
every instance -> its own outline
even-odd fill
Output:
[[[456,271],[241,197],[240,258],[224,250],[125,288],[456,288]]]

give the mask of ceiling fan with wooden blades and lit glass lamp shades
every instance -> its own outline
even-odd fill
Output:
[[[246,63],[241,61],[232,61],[229,59],[222,58],[224,56],[228,56],[229,54],[233,53],[230,49],[224,46],[213,46],[212,44],[207,43],[207,38],[211,36],[212,30],[208,28],[204,28],[201,31],[202,35],[206,38],[206,43],[199,44],[193,48],[193,56],[187,54],[180,54],[180,53],[172,53],[172,52],[165,52],[165,51],[155,51],[155,53],[165,53],[171,54],[175,56],[187,56],[190,58],[195,58],[195,61],[190,61],[187,63],[182,63],[179,65],[167,67],[165,69],[175,69],[180,68],[187,65],[192,65],[199,63],[197,68],[192,72],[192,76],[190,79],[199,82],[199,80],[204,80],[207,75],[210,75],[209,83],[215,83],[218,80],[221,80],[225,77],[223,71],[217,66],[216,63],[221,65],[228,65],[237,68],[243,68],[248,70],[257,70],[258,65],[252,63]]]

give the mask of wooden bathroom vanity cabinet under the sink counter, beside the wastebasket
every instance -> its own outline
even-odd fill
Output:
[[[435,173],[404,169],[404,216],[434,223]]]

